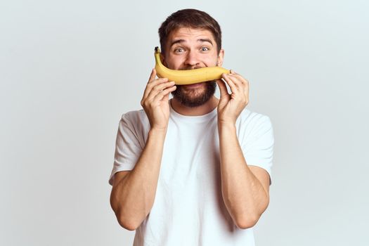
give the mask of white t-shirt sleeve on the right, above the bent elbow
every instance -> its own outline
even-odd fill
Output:
[[[250,131],[241,143],[243,155],[247,165],[265,169],[269,174],[271,185],[271,167],[273,164],[273,126],[266,115],[255,117],[254,124],[250,124]]]

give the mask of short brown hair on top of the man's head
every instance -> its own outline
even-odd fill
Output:
[[[209,30],[214,36],[218,53],[221,50],[221,27],[218,22],[204,11],[187,8],[172,13],[169,15],[167,20],[162,22],[162,25],[159,28],[162,53],[165,51],[164,48],[167,44],[167,38],[170,32],[180,27],[193,27]]]

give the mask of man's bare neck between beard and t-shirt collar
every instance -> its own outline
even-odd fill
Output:
[[[181,104],[178,100],[176,100],[176,98],[171,98],[170,101],[171,108],[173,108],[179,114],[186,116],[206,115],[207,113],[212,112],[212,110],[214,110],[214,108],[218,106],[218,102],[219,99],[215,96],[212,96],[209,101],[198,107],[185,106]]]

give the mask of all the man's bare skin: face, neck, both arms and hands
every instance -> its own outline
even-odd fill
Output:
[[[169,34],[164,54],[162,63],[175,70],[221,66],[224,58],[223,49],[216,52],[211,32],[188,27]],[[232,71],[216,84],[219,99],[213,96],[203,105],[188,108],[173,98],[171,105],[181,115],[205,115],[217,108],[224,204],[238,228],[250,228],[268,207],[269,176],[264,169],[246,163],[236,135],[235,121],[249,103],[249,82]],[[119,224],[128,230],[140,226],[153,207],[169,122],[169,93],[174,90],[174,82],[157,79],[153,69],[141,100],[150,122],[148,141],[134,169],[115,174],[110,204]],[[183,86],[188,97],[204,90],[204,83]]]

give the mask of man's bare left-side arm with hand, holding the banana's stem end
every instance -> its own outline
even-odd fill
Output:
[[[119,224],[131,231],[153,207],[169,120],[169,93],[176,89],[173,82],[155,76],[153,70],[141,101],[150,122],[148,141],[134,169],[115,174],[110,194],[110,205]]]

